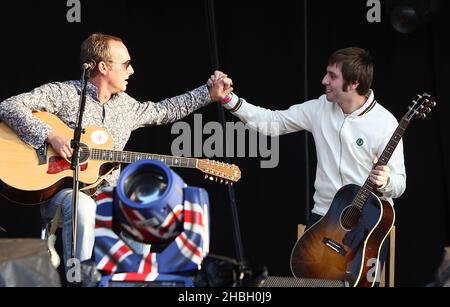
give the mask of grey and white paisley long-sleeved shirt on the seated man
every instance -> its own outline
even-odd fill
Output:
[[[42,85],[1,102],[0,120],[16,131],[24,142],[37,149],[44,144],[52,128],[34,117],[32,111],[55,114],[67,126],[75,128],[80,93],[80,81]],[[159,103],[140,103],[124,92],[113,95],[104,104],[97,97],[97,87],[88,82],[83,127],[106,128],[113,136],[114,150],[123,150],[133,130],[175,122],[211,102],[206,85]]]

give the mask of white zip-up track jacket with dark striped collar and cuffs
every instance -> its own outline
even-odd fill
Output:
[[[233,114],[266,135],[301,130],[312,133],[317,152],[313,212],[320,215],[328,211],[342,186],[364,184],[374,158],[381,156],[398,126],[396,118],[374,100],[373,91],[367,102],[350,115],[345,115],[336,103],[327,101],[325,95],[284,111],[260,108],[235,95],[224,106],[227,109],[237,106]],[[400,197],[406,187],[402,141],[388,166],[391,169],[388,184],[379,191],[383,199],[393,203],[392,198]]]

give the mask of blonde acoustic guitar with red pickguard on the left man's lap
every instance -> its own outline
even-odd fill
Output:
[[[53,129],[73,137],[73,130],[48,112],[35,112],[35,117]],[[205,178],[233,184],[241,178],[236,165],[208,159],[163,156],[148,153],[112,150],[113,139],[104,128],[88,127],[81,136],[80,185],[96,186],[100,176],[109,172],[114,163],[138,160],[159,160],[171,167],[198,169]],[[56,154],[47,143],[34,149],[24,143],[4,122],[0,122],[0,194],[20,204],[40,204],[57,191],[72,186],[70,161]]]

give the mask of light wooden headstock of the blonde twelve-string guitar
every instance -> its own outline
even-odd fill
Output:
[[[241,179],[241,171],[234,164],[227,164],[213,160],[198,160],[197,168],[205,173],[205,179],[233,184]]]

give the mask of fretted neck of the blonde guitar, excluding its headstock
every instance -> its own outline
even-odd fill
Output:
[[[197,168],[198,159],[173,156],[154,155],[141,152],[91,149],[92,160],[114,163],[133,163],[140,160],[158,160],[170,167]]]

